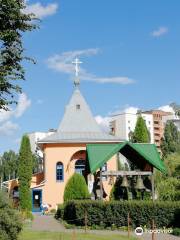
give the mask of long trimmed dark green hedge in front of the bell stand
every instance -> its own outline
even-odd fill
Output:
[[[56,218],[62,218],[69,224],[83,226],[85,215],[89,226],[103,225],[111,227],[127,226],[130,214],[131,225],[150,227],[152,219],[156,227],[179,227],[180,202],[152,201],[70,201],[59,207]]]

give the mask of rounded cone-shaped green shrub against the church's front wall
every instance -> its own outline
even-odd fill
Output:
[[[88,197],[89,192],[84,177],[78,173],[74,173],[66,184],[64,201],[86,199]]]

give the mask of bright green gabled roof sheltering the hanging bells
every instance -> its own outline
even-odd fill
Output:
[[[166,167],[161,160],[154,144],[115,143],[115,144],[87,144],[87,155],[90,172],[101,168],[113,155],[120,152],[140,169],[142,163],[147,162],[159,171],[166,173]]]

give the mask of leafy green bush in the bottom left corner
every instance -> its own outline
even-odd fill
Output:
[[[0,240],[16,240],[22,230],[22,220],[6,193],[0,192]]]

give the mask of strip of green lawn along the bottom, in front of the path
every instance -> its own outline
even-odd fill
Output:
[[[20,240],[135,240],[137,238],[128,238],[125,236],[107,234],[85,234],[85,233],[54,233],[54,232],[30,232],[24,231]]]

